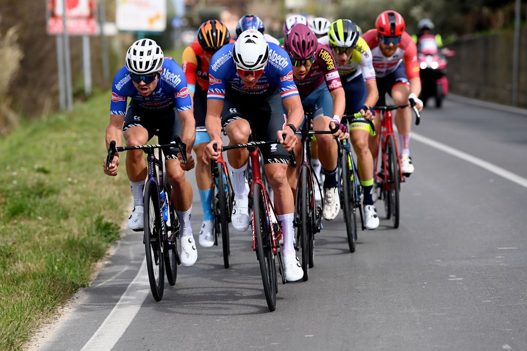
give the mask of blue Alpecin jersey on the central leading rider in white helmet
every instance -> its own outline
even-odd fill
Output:
[[[207,99],[225,99],[225,92],[235,92],[245,96],[268,97],[277,89],[282,99],[298,95],[293,81],[293,71],[289,55],[276,44],[269,45],[269,59],[264,74],[258,78],[255,86],[243,84],[236,64],[232,59],[234,43],[224,45],[212,56],[209,67],[209,91]]]

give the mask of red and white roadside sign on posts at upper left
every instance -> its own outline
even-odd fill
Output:
[[[67,32],[94,35],[97,31],[96,0],[47,0],[47,34],[62,34],[63,1],[66,1]]]

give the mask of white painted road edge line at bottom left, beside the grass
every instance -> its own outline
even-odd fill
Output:
[[[111,350],[132,323],[149,292],[147,261],[143,260],[139,272],[126,288],[119,302],[82,349]]]

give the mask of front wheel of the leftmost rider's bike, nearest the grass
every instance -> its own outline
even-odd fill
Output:
[[[147,183],[144,191],[144,249],[150,290],[154,299],[160,301],[164,289],[164,258],[159,193],[153,181]]]

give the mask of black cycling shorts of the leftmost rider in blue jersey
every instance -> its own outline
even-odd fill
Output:
[[[143,127],[148,131],[148,139],[154,135],[159,137],[159,144],[170,144],[176,135],[181,135],[181,122],[177,109],[145,109],[133,99],[126,109],[123,133],[132,127]],[[165,159],[177,158],[178,148],[163,148]]]

